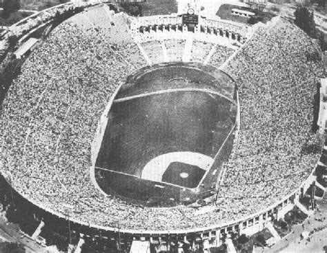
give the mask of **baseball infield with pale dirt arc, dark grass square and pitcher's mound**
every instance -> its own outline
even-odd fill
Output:
[[[170,152],[148,162],[141,178],[182,188],[197,188],[213,161],[210,156],[196,152]]]

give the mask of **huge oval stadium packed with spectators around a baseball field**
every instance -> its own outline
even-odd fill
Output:
[[[228,245],[301,205],[324,143],[317,41],[283,17],[246,26],[196,4],[131,17],[65,3],[21,26],[70,8],[1,108],[2,202],[27,230],[41,222],[47,243],[55,231],[86,252],[175,252]]]

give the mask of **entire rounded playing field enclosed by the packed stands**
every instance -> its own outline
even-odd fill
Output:
[[[235,92],[227,74],[200,63],[159,64],[128,77],[100,123],[95,186],[152,207],[215,194],[232,150]]]

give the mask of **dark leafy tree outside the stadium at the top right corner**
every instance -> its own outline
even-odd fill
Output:
[[[306,34],[314,39],[317,39],[317,30],[315,19],[313,19],[313,12],[310,12],[304,6],[298,6],[294,12],[295,24],[299,26]]]

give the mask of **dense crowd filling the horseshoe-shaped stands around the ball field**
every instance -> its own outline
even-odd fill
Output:
[[[85,13],[78,15],[83,19]],[[310,152],[319,145],[311,132],[313,100],[323,67],[306,57],[317,44],[281,19],[270,30],[258,30],[225,69],[238,85],[241,128],[225,165],[219,211],[195,216],[195,209],[183,205],[144,208],[104,196],[90,179],[90,143],[119,83],[146,61],[126,23],[103,30],[75,21],[62,23],[36,49],[3,102],[0,172],[30,201],[63,216],[66,204],[72,205],[70,219],[90,225],[181,230],[267,208],[313,170],[319,159]],[[169,59],[181,57],[184,42],[166,41],[166,48]]]

